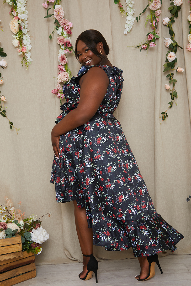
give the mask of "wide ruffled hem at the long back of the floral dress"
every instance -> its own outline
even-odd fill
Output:
[[[154,219],[142,221],[120,221],[104,216],[103,225],[93,225],[94,245],[104,246],[108,251],[122,251],[133,248],[135,257],[154,255],[171,250],[184,238],[176,229],[157,215]]]

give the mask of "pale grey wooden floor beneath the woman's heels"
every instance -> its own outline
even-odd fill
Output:
[[[147,281],[135,279],[139,274],[138,259],[105,260],[99,262],[98,284],[95,276],[88,281],[82,281],[78,274],[82,263],[41,265],[37,266],[37,276],[17,284],[17,286],[190,286],[191,285],[191,255],[168,255],[159,258],[163,274],[155,265],[155,276]]]

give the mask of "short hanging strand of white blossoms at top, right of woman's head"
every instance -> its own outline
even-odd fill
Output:
[[[124,34],[127,34],[127,32],[131,31],[134,21],[135,21],[135,18],[133,17],[133,14],[135,13],[135,9],[133,9],[135,2],[131,0],[125,0],[126,7],[127,7],[126,11],[123,9],[123,5],[121,4],[120,0],[114,0],[114,3],[118,5],[121,15],[127,16],[125,30],[123,32]]]

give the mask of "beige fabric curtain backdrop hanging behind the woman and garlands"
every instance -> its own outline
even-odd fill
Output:
[[[121,1],[125,7],[125,1]],[[147,5],[147,0],[135,0],[135,17]],[[121,122],[125,136],[135,155],[141,174],[156,210],[185,238],[177,245],[174,254],[191,253],[191,203],[186,197],[190,190],[191,150],[191,52],[188,44],[188,20],[190,7],[184,1],[173,28],[175,39],[183,50],[176,53],[178,65],[184,73],[176,75],[178,92],[177,106],[168,111],[168,120],[160,124],[160,113],[170,101],[165,89],[168,83],[163,65],[168,48],[164,38],[169,37],[168,28],[162,18],[169,16],[170,2],[163,1],[160,21],[160,39],[148,53],[128,46],[137,45],[148,33],[145,29],[147,11],[141,22],[135,24],[131,33],[123,34],[125,16],[121,17],[113,0],[62,0],[64,17],[73,23],[72,44],[86,29],[96,29],[106,38],[110,47],[109,59],[113,65],[123,69],[123,93],[115,116]],[[54,185],[50,184],[50,172],[54,152],[51,145],[51,130],[56,117],[61,113],[60,102],[51,90],[57,84],[58,50],[57,34],[52,41],[49,35],[54,20],[44,19],[46,9],[40,0],[28,0],[28,29],[31,37],[31,58],[28,70],[21,67],[21,57],[12,45],[9,29],[10,6],[0,1],[0,47],[7,53],[7,68],[1,69],[4,83],[1,95],[7,98],[7,116],[17,128],[10,131],[9,122],[0,116],[1,144],[1,196],[11,198],[15,204],[21,200],[21,209],[26,217],[38,217],[52,212],[52,217],[42,219],[42,227],[50,238],[42,245],[43,251],[36,256],[36,263],[56,264],[82,261],[74,223],[72,202],[56,203]],[[149,12],[149,11],[148,11]],[[68,65],[75,76],[80,64],[74,55],[68,56]],[[98,259],[132,258],[132,250],[121,252],[105,251],[94,247]]]

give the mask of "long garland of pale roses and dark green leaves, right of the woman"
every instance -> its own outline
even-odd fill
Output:
[[[166,63],[164,64],[165,69],[163,72],[169,71],[169,74],[166,77],[170,79],[169,83],[172,84],[172,88],[170,88],[169,84],[165,84],[166,90],[171,91],[170,93],[171,101],[168,103],[169,107],[166,109],[166,111],[161,112],[162,115],[160,116],[160,118],[162,117],[162,121],[160,123],[162,123],[164,120],[167,119],[168,117],[167,110],[172,107],[175,101],[175,98],[178,97],[177,91],[174,89],[174,86],[177,80],[173,79],[174,73],[172,73],[171,71],[176,70],[176,74],[177,72],[184,72],[184,69],[182,69],[181,67],[177,67],[176,69],[174,69],[175,63],[177,63],[177,57],[175,54],[177,52],[178,47],[180,49],[182,49],[182,47],[180,47],[178,43],[175,41],[174,39],[175,33],[172,29],[172,25],[175,22],[174,18],[178,18],[178,11],[180,11],[181,9],[180,5],[182,3],[183,3],[183,0],[174,0],[173,2],[171,2],[170,7],[168,7],[168,10],[170,11],[170,14],[172,14],[172,17],[170,18],[165,17],[162,19],[162,23],[166,25],[166,27],[169,28],[169,34],[171,36],[170,38],[164,39],[165,46],[168,47],[170,50],[166,54]],[[175,101],[175,104],[176,104],[176,101]]]

